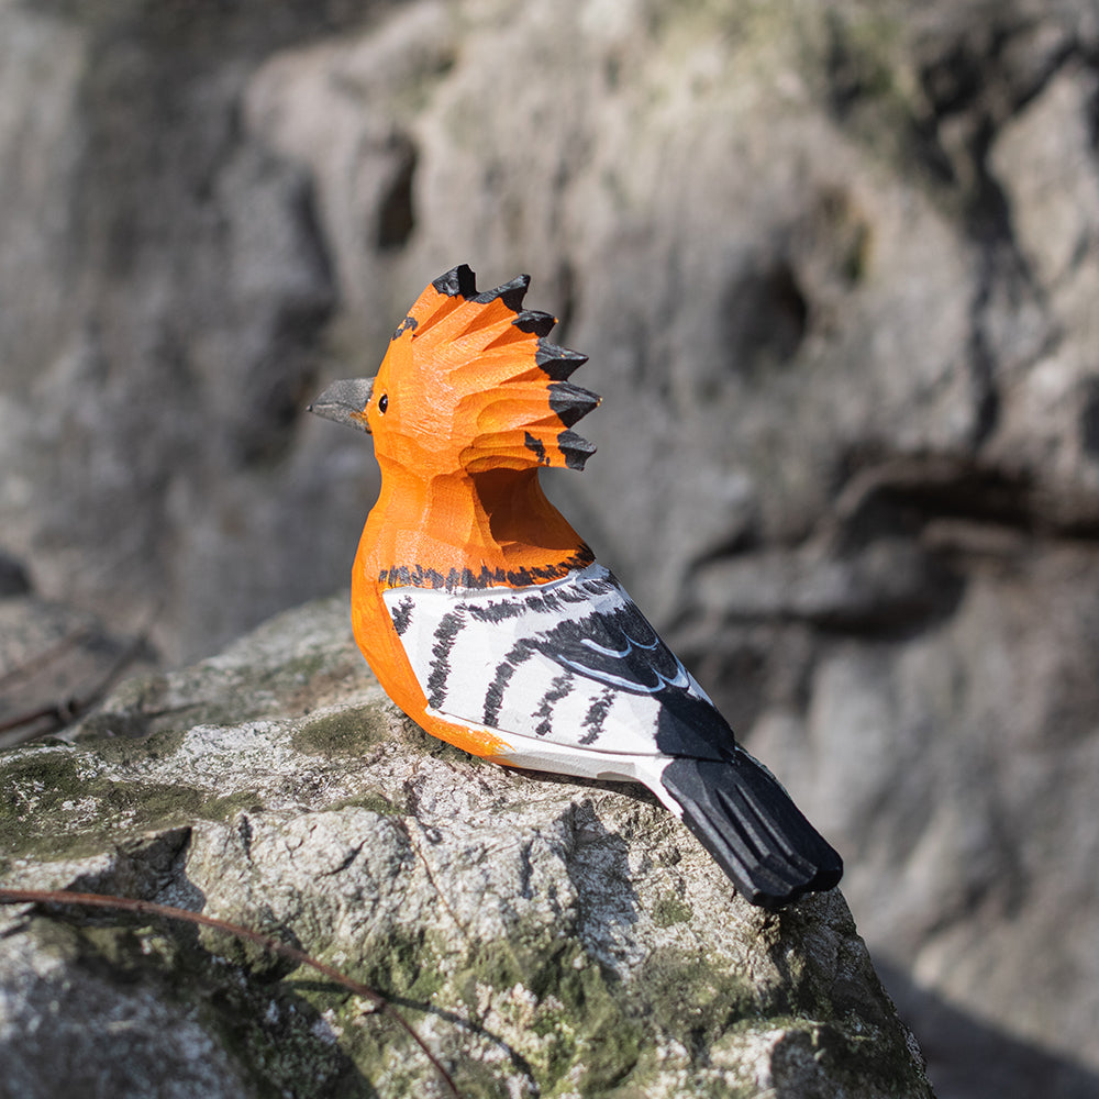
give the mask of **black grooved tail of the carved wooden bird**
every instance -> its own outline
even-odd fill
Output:
[[[660,781],[682,806],[684,823],[753,904],[781,908],[839,882],[840,856],[746,752],[725,761],[680,756]]]

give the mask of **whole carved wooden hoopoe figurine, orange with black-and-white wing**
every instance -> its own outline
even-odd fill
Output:
[[[423,729],[502,764],[639,781],[752,903],[832,888],[840,856],[729,724],[584,540],[542,466],[582,469],[571,428],[599,398],[586,356],[522,308],[530,279],[478,293],[455,267],[398,326],[375,378],[310,406],[374,436],[381,493],[355,557],[355,639]]]

